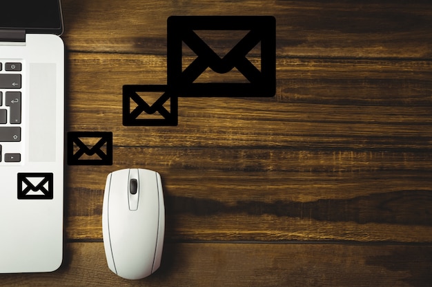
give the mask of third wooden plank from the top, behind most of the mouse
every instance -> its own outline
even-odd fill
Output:
[[[101,239],[112,170],[161,173],[169,240],[432,242],[425,153],[115,147],[68,167],[68,238]]]

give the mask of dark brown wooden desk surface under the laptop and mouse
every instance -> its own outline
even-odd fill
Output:
[[[0,285],[430,286],[432,4],[352,2],[63,0],[66,131],[112,131],[114,163],[67,167],[61,268]],[[241,14],[277,20],[276,96],[122,125],[123,85],[166,84],[169,16]],[[127,167],[164,182],[163,262],[140,281],[102,242],[106,176]]]

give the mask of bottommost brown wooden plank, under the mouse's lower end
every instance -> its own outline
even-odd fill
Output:
[[[101,242],[66,250],[56,272],[1,274],[2,286],[424,286],[432,279],[431,246],[168,243],[157,273],[137,281],[111,273]]]

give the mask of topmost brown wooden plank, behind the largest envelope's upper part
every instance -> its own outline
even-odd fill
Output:
[[[76,7],[79,6],[79,9]],[[279,56],[430,58],[430,1],[63,0],[68,48],[166,54],[171,15],[273,15]],[[226,47],[220,41],[217,47]]]

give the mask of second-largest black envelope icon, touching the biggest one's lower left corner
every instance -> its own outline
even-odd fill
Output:
[[[157,94],[150,103],[139,94]],[[130,105],[132,103],[132,105]],[[148,104],[150,103],[150,105]],[[124,85],[123,125],[177,125],[178,98],[175,89],[166,85]]]

